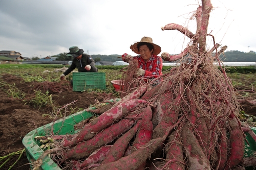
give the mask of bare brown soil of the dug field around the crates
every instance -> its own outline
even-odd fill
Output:
[[[22,92],[26,94],[27,98],[29,98],[29,95],[34,95],[33,89],[35,88],[41,88],[42,91],[46,90],[44,83],[25,83],[22,78],[12,75],[1,75],[1,79],[7,83],[15,83],[15,87],[22,90]],[[59,85],[57,91],[50,91],[50,93],[53,94],[55,104],[59,106],[65,106],[77,100],[77,102],[69,105],[68,107],[88,108],[91,104],[95,104],[96,101],[102,102],[106,99],[114,98],[112,94],[74,92],[72,91],[69,82],[62,83],[63,84]],[[238,88],[241,90],[245,87],[241,86]],[[255,99],[255,93],[249,93],[248,98]],[[24,149],[22,144],[23,137],[35,128],[48,124],[53,120],[47,116],[52,109],[51,107],[41,107],[38,110],[38,108],[24,104],[25,102],[22,100],[9,98],[6,93],[6,89],[3,87],[0,88],[0,156],[8,155],[9,153]],[[72,109],[69,109],[67,112],[68,114],[71,112],[70,110]],[[244,104],[243,110],[247,114],[256,115],[255,106]],[[12,156],[11,160],[9,160],[1,169],[8,169],[17,158],[18,155]],[[1,162],[1,164],[2,163],[3,162]],[[22,155],[20,160],[12,169],[30,169],[26,153]]]

